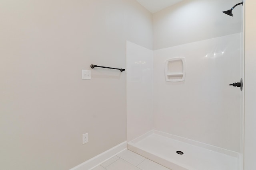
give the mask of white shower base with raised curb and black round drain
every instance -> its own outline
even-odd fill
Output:
[[[150,131],[127,148],[171,170],[238,170],[240,154],[160,131]],[[182,151],[184,154],[177,154]]]

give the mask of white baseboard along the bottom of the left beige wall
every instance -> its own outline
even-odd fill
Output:
[[[92,168],[95,168],[99,164],[105,162],[109,158],[112,158],[113,156],[115,156],[119,152],[122,152],[125,149],[127,149],[126,141],[120,143],[119,145],[116,145],[115,147],[109,150],[106,150],[105,152],[102,152],[97,156],[94,156],[93,158],[83,162],[82,164],[79,164],[78,166],[75,166],[74,168],[71,168],[70,170],[90,170]]]

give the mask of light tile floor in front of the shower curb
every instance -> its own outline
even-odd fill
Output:
[[[130,150],[124,150],[92,170],[170,170]]]

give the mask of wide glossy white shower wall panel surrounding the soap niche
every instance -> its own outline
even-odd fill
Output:
[[[240,152],[241,34],[154,51],[154,129]],[[186,58],[184,82],[166,82],[164,64]]]

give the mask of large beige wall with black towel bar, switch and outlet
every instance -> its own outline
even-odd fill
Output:
[[[126,141],[126,40],[152,49],[136,0],[0,6],[0,169],[67,170]],[[82,134],[89,143],[82,145]]]

